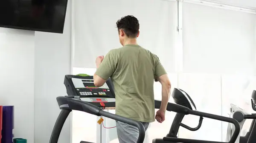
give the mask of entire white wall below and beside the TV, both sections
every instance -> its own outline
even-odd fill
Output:
[[[0,28],[0,105],[15,106],[15,137],[47,143],[71,67],[71,1],[64,34]],[[70,143],[67,119],[59,143]]]

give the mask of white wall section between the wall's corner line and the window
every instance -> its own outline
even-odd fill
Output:
[[[60,109],[56,97],[67,95],[64,76],[71,73],[71,0],[63,34],[35,32],[35,140],[49,142]],[[70,118],[59,143],[70,143]]]

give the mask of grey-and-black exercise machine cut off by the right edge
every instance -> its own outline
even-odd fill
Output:
[[[252,96],[251,96],[251,105],[254,111],[256,111],[256,91],[253,90]],[[255,143],[256,142],[256,114],[248,114],[243,109],[231,104],[230,105],[230,118],[234,118],[239,122],[240,129],[242,129],[244,122],[246,119],[253,119],[249,132],[246,133],[245,136],[237,137],[235,143]],[[233,135],[234,132],[234,126],[233,124],[228,125],[227,128],[227,137],[226,141],[230,140],[230,137]]]

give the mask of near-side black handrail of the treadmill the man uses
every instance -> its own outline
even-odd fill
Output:
[[[137,143],[143,143],[145,138],[145,128],[141,122],[135,121],[133,119],[129,119],[120,115],[112,114],[110,112],[105,112],[99,107],[90,104],[85,101],[81,101],[75,98],[59,96],[57,97],[57,102],[60,109],[70,109],[70,110],[78,110],[82,112],[87,112],[89,114],[93,114],[96,116],[104,116],[107,118],[111,118],[116,121],[120,121],[123,123],[128,123],[132,126],[136,126],[139,129],[139,137]]]

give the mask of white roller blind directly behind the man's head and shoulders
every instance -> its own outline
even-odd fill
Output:
[[[175,71],[177,2],[166,0],[75,0],[74,67],[95,68],[96,56],[120,48],[116,21],[134,15],[140,21],[139,45],[157,54]]]

